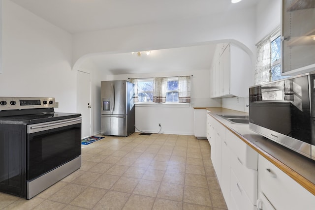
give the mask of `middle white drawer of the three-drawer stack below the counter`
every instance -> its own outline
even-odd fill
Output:
[[[255,205],[257,201],[257,171],[245,167],[234,153],[231,153],[230,156],[231,168],[234,175],[241,183],[244,193],[247,194],[252,204]]]

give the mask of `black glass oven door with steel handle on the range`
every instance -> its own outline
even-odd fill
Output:
[[[81,155],[81,118],[28,125],[27,180]]]

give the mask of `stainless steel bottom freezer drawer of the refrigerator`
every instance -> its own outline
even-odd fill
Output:
[[[102,115],[101,134],[110,136],[127,136],[126,115]]]

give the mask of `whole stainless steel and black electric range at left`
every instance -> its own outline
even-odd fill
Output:
[[[0,97],[0,191],[31,199],[81,167],[81,115],[55,98]]]

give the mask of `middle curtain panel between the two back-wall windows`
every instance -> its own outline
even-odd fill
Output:
[[[165,103],[166,100],[166,88],[167,88],[167,77],[156,77],[153,79],[154,92],[153,102]]]

